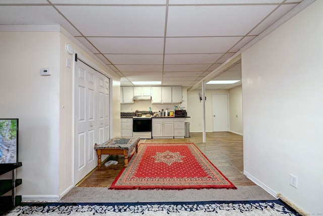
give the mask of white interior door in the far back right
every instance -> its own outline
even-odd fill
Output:
[[[212,94],[213,132],[229,131],[228,94]]]

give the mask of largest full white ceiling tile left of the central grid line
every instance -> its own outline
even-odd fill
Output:
[[[85,36],[164,36],[166,7],[57,6]]]

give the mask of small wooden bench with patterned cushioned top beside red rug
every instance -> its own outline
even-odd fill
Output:
[[[138,152],[138,143],[140,141],[139,137],[116,137],[101,145],[95,143],[94,149],[97,154],[97,167],[101,167],[101,155],[111,154],[111,155],[124,155],[125,156],[125,167],[128,166],[128,155],[130,155],[133,149]]]

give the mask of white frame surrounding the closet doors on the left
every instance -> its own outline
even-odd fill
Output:
[[[110,122],[109,122],[109,125],[110,125],[110,137],[112,137],[113,135],[113,125],[112,125],[112,106],[113,106],[113,98],[112,98],[112,84],[113,84],[113,79],[112,77],[103,72],[102,70],[99,70],[97,68],[100,68],[97,64],[95,64],[93,61],[90,61],[88,58],[86,58],[85,56],[83,56],[82,54],[74,54],[73,55],[73,91],[72,91],[72,106],[73,106],[73,113],[72,113],[72,119],[73,119],[73,123],[72,123],[72,130],[73,130],[73,135],[72,135],[72,139],[73,139],[73,150],[72,150],[72,161],[73,161],[73,164],[72,164],[72,171],[73,171],[73,175],[72,175],[72,183],[73,185],[75,186],[78,182],[75,182],[75,129],[76,129],[76,122],[75,122],[75,110],[76,110],[76,104],[75,104],[75,94],[76,94],[76,62],[77,61],[82,61],[84,64],[87,64],[89,67],[91,67],[92,69],[94,69],[95,71],[101,73],[102,75],[106,76],[107,78],[109,78],[109,94],[110,94],[110,109],[109,109],[109,116],[110,116]]]

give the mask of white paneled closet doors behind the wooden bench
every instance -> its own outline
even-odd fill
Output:
[[[81,61],[76,62],[74,183],[81,181],[96,167],[95,143],[100,144],[110,138],[106,136],[110,135],[110,118],[106,123],[106,116],[110,116],[110,96],[106,96],[106,79],[109,83],[109,78]],[[106,104],[105,100],[109,103]]]

